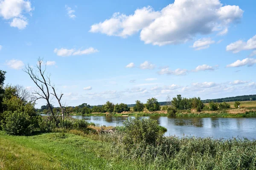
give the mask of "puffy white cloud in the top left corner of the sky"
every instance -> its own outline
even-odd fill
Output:
[[[0,1],[0,17],[9,22],[11,27],[24,29],[28,25],[28,20],[24,16],[25,13],[31,14],[32,11],[30,1],[26,0],[1,0]]]

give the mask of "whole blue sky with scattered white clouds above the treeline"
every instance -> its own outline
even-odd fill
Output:
[[[255,0],[0,0],[0,70],[5,84],[33,92],[22,69],[43,58],[69,106],[256,94],[255,6]]]

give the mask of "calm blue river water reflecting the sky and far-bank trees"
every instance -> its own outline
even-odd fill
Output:
[[[96,125],[121,126],[127,117],[114,116],[71,116],[84,119]],[[232,137],[246,137],[256,139],[256,118],[169,118],[146,116],[140,117],[157,120],[159,125],[166,127],[166,136],[198,136],[216,139]]]

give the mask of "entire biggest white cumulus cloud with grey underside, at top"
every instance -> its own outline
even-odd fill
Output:
[[[114,13],[110,19],[92,25],[90,32],[127,37],[141,30],[140,39],[145,44],[177,44],[197,34],[226,34],[227,27],[239,22],[243,12],[239,6],[224,6],[219,0],[175,0],[161,11],[143,7],[129,16]]]

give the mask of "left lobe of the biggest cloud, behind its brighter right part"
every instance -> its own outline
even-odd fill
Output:
[[[152,20],[159,17],[160,13],[155,12],[150,6],[134,11],[132,15],[114,13],[110,19],[94,24],[90,32],[100,32],[110,36],[127,37],[148,26]]]

